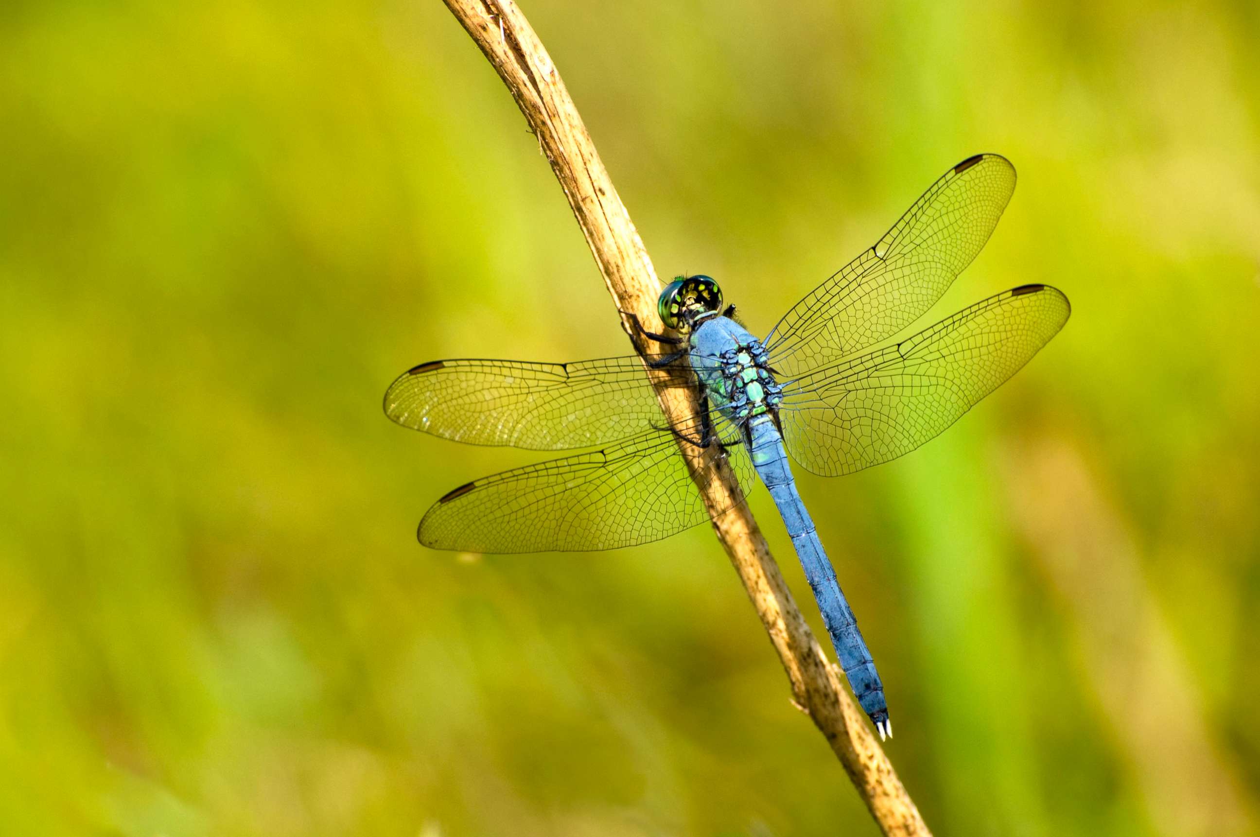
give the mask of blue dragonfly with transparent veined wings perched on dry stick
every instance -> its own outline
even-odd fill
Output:
[[[384,397],[386,415],[399,425],[474,445],[581,451],[447,492],[423,516],[420,542],[481,553],[634,546],[708,522],[697,485],[730,484],[733,474],[740,490],[717,509],[724,513],[760,479],[854,697],[881,739],[890,736],[883,683],[790,464],[839,476],[915,450],[1058,333],[1071,313],[1067,297],[1036,284],[891,342],[971,263],[1014,185],[1014,168],[1000,155],[954,165],[761,339],[735,319],[733,306],[723,308],[712,277],[693,275],[660,294],[662,332],[631,319],[667,352],[576,363],[430,361],[408,369]],[[689,388],[696,407],[667,420],[658,387]],[[690,468],[680,446],[692,453]]]

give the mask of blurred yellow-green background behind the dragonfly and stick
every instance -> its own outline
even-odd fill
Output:
[[[1011,158],[929,321],[1051,282],[1066,329],[914,455],[799,471],[888,751],[940,834],[1256,833],[1260,8],[524,11],[658,270],[757,333]],[[394,374],[629,347],[440,3],[10,0],[0,113],[0,832],[876,832],[707,528],[416,543],[541,456],[396,427]]]

